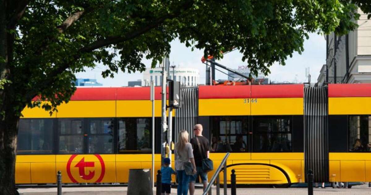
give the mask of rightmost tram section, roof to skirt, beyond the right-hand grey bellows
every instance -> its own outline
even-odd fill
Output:
[[[329,84],[330,181],[370,182],[371,84]],[[360,140],[361,149],[354,145]]]

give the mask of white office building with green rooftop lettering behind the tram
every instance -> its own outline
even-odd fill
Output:
[[[174,70],[174,72],[173,72]],[[162,85],[162,68],[151,68],[144,72],[143,79],[154,81],[156,86]],[[200,83],[200,73],[195,68],[170,68],[168,79],[180,81],[185,86],[197,86]]]

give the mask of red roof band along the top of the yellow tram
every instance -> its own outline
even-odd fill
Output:
[[[288,85],[200,85],[200,99],[302,98],[303,84]],[[168,89],[167,89],[168,92]],[[329,84],[328,97],[371,97],[371,84]],[[33,101],[37,99],[34,98]],[[77,88],[71,101],[149,100],[150,87]],[[161,87],[155,87],[155,100],[161,100]]]

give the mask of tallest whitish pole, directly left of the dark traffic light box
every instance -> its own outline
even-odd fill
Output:
[[[163,60],[162,64],[162,109],[161,109],[161,124],[162,124],[162,131],[161,131],[161,165],[163,162],[163,159],[165,157],[165,132],[167,130],[167,124],[166,124],[166,71],[165,71],[165,58]]]

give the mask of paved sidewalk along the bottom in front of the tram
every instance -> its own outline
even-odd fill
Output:
[[[63,188],[63,195],[126,195],[127,187],[68,187]],[[176,195],[175,188],[171,195]],[[56,195],[56,188],[21,188],[20,195]],[[223,195],[223,189],[220,190]],[[155,193],[154,193],[155,194]],[[202,194],[202,189],[196,189],[196,195]],[[213,194],[216,194],[213,188]],[[230,195],[230,189],[228,189]],[[238,188],[238,195],[307,195],[306,188]],[[370,195],[368,185],[353,186],[351,189],[315,188],[314,195]]]

